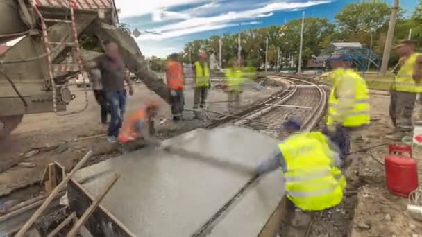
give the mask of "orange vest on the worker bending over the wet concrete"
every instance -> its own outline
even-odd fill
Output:
[[[135,125],[140,120],[145,121],[145,114],[145,108],[141,107],[136,112],[126,117],[121,126],[119,137],[117,137],[120,143],[127,143],[128,141],[133,141],[142,137],[142,134],[135,130]]]

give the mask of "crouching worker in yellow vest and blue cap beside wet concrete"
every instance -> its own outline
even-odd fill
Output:
[[[346,178],[338,168],[342,165],[339,148],[321,132],[299,132],[300,126],[295,117],[283,123],[289,137],[256,168],[258,175],[281,168],[289,215],[292,211],[335,207],[343,199],[346,187]]]

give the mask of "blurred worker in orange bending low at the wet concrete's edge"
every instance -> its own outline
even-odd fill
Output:
[[[154,120],[157,112],[158,103],[149,101],[127,116],[117,137],[119,143],[124,144],[143,138],[151,146],[161,146],[162,142],[155,138]]]

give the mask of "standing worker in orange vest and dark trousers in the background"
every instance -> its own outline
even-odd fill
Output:
[[[185,87],[185,76],[183,75],[183,67],[178,62],[178,54],[170,55],[170,60],[166,67],[167,87],[169,88],[171,113],[173,120],[178,121],[183,115],[183,107],[185,105],[183,98],[183,88]]]

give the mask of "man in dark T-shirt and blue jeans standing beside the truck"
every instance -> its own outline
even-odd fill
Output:
[[[94,62],[96,68],[101,71],[101,84],[103,85],[105,98],[110,105],[111,118],[110,123],[108,123],[108,141],[115,143],[119,129],[121,128],[126,106],[124,82],[126,81],[128,84],[130,95],[133,95],[132,83],[126,75],[119,46],[115,42],[106,44],[105,54],[95,58]]]

